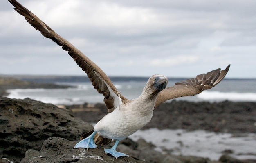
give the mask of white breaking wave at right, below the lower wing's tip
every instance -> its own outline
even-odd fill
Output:
[[[197,95],[202,100],[230,100],[230,101],[252,101],[256,102],[256,93],[204,91]]]

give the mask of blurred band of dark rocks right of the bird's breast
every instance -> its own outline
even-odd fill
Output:
[[[256,102],[163,103],[144,128],[182,128],[228,133],[256,133]]]

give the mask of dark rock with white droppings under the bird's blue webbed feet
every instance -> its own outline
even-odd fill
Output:
[[[20,163],[146,163],[132,157],[115,157],[105,154],[102,146],[98,148],[74,149],[78,141],[69,141],[59,137],[50,137],[43,142],[42,149],[27,150],[25,158]]]

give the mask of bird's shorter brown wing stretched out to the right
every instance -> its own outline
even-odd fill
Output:
[[[194,96],[204,90],[211,89],[225,77],[230,65],[225,70],[216,69],[206,74],[200,74],[196,78],[187,79],[175,83],[172,87],[167,87],[157,95],[155,108],[165,102],[177,97]]]

